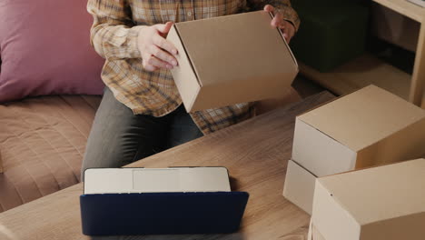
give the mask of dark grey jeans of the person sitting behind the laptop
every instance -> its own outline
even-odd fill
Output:
[[[87,141],[81,179],[87,168],[128,165],[202,135],[183,105],[162,117],[133,115],[106,87]]]

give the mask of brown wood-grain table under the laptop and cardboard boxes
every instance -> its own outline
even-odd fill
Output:
[[[294,120],[295,115],[333,98],[323,92],[128,165],[226,166],[232,190],[250,193],[238,233],[91,238],[81,233],[79,195],[83,185],[78,184],[0,214],[0,239],[306,239],[310,216],[282,196],[287,160],[292,153]]]

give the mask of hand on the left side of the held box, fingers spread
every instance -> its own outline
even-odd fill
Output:
[[[178,65],[174,55],[177,48],[164,37],[168,34],[173,23],[143,27],[137,37],[137,46],[142,55],[145,70],[155,71],[160,68],[173,69]]]

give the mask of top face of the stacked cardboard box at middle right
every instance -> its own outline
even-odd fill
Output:
[[[342,145],[360,151],[424,119],[425,110],[370,85],[298,117]]]

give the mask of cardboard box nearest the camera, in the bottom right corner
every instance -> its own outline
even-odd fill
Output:
[[[425,159],[318,178],[312,223],[327,240],[421,240]]]

